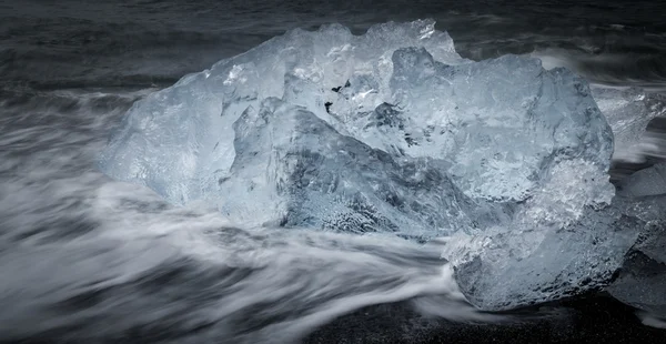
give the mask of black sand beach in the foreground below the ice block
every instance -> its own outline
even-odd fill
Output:
[[[636,308],[603,293],[506,312],[508,323],[455,323],[428,318],[406,302],[341,316],[307,335],[327,343],[666,343],[666,330],[646,326]]]

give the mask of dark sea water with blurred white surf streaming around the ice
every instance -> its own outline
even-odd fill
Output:
[[[551,342],[618,328],[666,341],[642,325],[657,320],[597,295],[480,312],[437,243],[234,227],[95,168],[134,101],[289,29],[340,22],[361,33],[433,18],[470,59],[534,55],[591,83],[664,93],[663,11],[658,1],[0,0],[0,342],[543,342],[535,328]],[[618,163],[618,175],[658,159]]]

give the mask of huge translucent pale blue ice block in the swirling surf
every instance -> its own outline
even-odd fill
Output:
[[[243,226],[446,242],[470,302],[606,283],[643,220],[612,205],[613,132],[537,59],[461,58],[432,20],[292,30],[138,101],[110,176]]]

